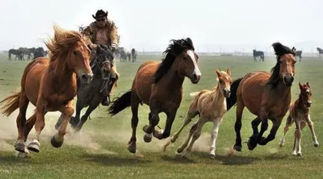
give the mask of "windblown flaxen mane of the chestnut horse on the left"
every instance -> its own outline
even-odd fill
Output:
[[[49,51],[49,58],[51,61],[61,58],[68,54],[72,44],[79,41],[85,41],[85,37],[77,31],[68,31],[54,25],[54,38],[50,38],[45,42]]]

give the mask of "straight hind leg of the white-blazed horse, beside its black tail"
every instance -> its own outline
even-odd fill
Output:
[[[128,150],[131,153],[136,153],[136,142],[137,142],[137,137],[136,137],[136,131],[137,131],[137,126],[138,126],[138,107],[139,107],[139,98],[135,92],[131,93],[132,94],[132,104],[131,104],[131,112],[132,112],[132,118],[131,118],[131,128],[132,128],[132,135],[130,138],[130,141],[128,142]],[[151,138],[150,138],[151,140]]]

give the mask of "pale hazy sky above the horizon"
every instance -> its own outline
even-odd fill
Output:
[[[139,51],[163,51],[182,37],[201,52],[265,51],[276,41],[323,47],[323,0],[3,0],[0,50],[44,46],[53,24],[77,30],[98,9],[109,11],[121,45]]]

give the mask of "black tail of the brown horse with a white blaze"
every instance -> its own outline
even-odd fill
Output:
[[[131,90],[124,93],[121,97],[112,102],[109,107],[109,114],[114,116],[125,108],[128,108],[131,104]]]

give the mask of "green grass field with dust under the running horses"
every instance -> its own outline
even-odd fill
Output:
[[[135,72],[142,61],[159,60],[159,56],[138,56],[137,63],[117,63],[121,74],[119,88],[115,95],[127,91],[132,83]],[[190,92],[211,89],[216,84],[214,68],[232,70],[233,79],[242,77],[249,71],[269,71],[276,63],[274,57],[267,57],[264,63],[254,63],[251,57],[201,56],[198,62],[202,78],[198,84],[184,82],[184,97],[179,108],[172,134],[182,124],[188,106],[192,100]],[[27,62],[7,61],[0,56],[0,99],[20,85],[20,78]],[[298,81],[309,81],[313,92],[311,118],[315,123],[318,141],[323,142],[323,61],[304,57],[296,63],[296,81],[292,87],[292,100],[298,97]],[[30,115],[33,107],[29,106]],[[176,148],[186,137],[189,127],[174,145],[162,152],[164,141],[153,138],[149,144],[143,142],[142,127],[148,124],[148,107],[139,108],[139,126],[137,132],[137,149],[139,155],[132,155],[127,150],[127,142],[131,135],[130,108],[120,114],[110,117],[106,108],[100,106],[84,125],[79,136],[67,134],[61,148],[50,145],[50,137],[55,134],[54,124],[59,113],[49,113],[46,116],[46,126],[41,137],[40,153],[31,153],[30,159],[15,157],[14,142],[17,136],[15,119],[17,111],[9,118],[0,116],[0,179],[12,178],[261,178],[261,179],[310,179],[323,176],[322,146],[313,146],[309,128],[303,130],[302,157],[291,155],[294,132],[287,133],[283,148],[278,146],[286,118],[276,135],[276,139],[266,146],[258,146],[253,151],[243,144],[243,151],[234,156],[227,156],[227,151],[234,145],[235,108],[224,117],[219,130],[216,158],[207,156],[212,124],[206,124],[203,134],[195,143],[194,152],[188,158],[175,155]],[[165,124],[165,115],[160,115],[160,126]],[[251,120],[255,118],[245,110],[243,115],[242,139],[250,137]],[[271,124],[270,126],[271,127]],[[294,128],[294,126],[293,126]],[[268,128],[270,129],[270,128]],[[267,135],[268,132],[265,133]],[[30,137],[32,137],[33,131]],[[143,156],[141,156],[143,155]]]

